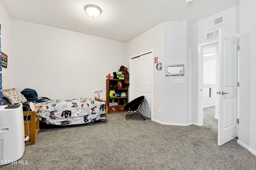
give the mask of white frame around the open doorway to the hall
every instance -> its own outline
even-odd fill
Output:
[[[214,39],[198,45],[198,126],[203,125],[204,47],[216,43],[219,43],[219,39]]]

